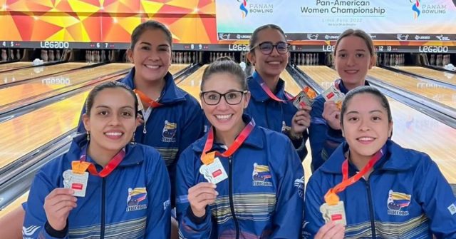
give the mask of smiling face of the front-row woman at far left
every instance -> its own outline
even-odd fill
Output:
[[[125,88],[105,88],[93,98],[90,116],[83,115],[90,131],[90,148],[98,153],[120,151],[136,129],[135,98]]]

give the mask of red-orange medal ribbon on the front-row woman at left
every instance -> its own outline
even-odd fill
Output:
[[[115,168],[122,162],[123,158],[125,157],[125,148],[123,148],[119,153],[117,153],[109,163],[103,168],[103,170],[100,171],[100,173],[97,172],[95,166],[93,163],[89,163],[86,161],[86,149],[84,149],[83,155],[79,158],[79,161],[73,161],[71,162],[71,169],[73,170],[73,173],[84,173],[86,170],[89,171],[90,174],[94,176],[99,176],[101,178],[105,178],[108,176],[110,173],[114,171]]]

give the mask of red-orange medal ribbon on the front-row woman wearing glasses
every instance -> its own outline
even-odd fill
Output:
[[[254,126],[255,121],[252,119],[249,123],[247,123],[244,129],[242,129],[241,133],[239,133],[239,136],[237,136],[237,138],[234,140],[234,143],[232,144],[232,146],[229,146],[227,151],[224,151],[223,153],[220,153],[219,151],[212,151],[210,153],[206,153],[212,148],[212,145],[214,144],[214,128],[211,127],[207,135],[206,143],[204,144],[204,149],[202,150],[202,163],[204,163],[205,165],[211,164],[212,162],[214,162],[215,156],[222,156],[224,158],[232,156],[233,153],[236,152],[237,149],[242,145],[242,143],[244,143],[249,134],[252,133]]]

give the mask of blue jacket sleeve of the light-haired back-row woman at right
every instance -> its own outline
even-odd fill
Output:
[[[312,151],[312,171],[316,171],[331,156],[336,148],[343,143],[342,132],[328,126],[323,118],[323,98],[317,98],[312,105],[309,140]]]

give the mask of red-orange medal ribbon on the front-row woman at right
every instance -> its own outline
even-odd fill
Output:
[[[339,197],[336,195],[336,193],[340,193],[341,191],[345,190],[349,185],[352,185],[353,183],[358,182],[363,176],[366,175],[375,163],[377,163],[380,158],[385,154],[385,147],[381,148],[380,151],[375,153],[375,155],[368,161],[368,164],[364,166],[364,168],[356,173],[354,176],[351,178],[348,178],[348,159],[343,161],[342,163],[342,182],[336,185],[334,188],[331,188],[328,190],[328,193],[325,195],[325,202],[328,203],[328,205],[336,205],[339,202]]]

